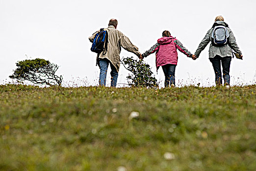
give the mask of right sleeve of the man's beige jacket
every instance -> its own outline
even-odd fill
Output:
[[[140,56],[138,47],[133,45],[129,38],[126,37],[123,33],[120,32],[120,45],[129,52],[134,53],[137,56]]]

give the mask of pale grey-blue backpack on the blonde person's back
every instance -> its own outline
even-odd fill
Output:
[[[228,29],[223,25],[217,25],[213,28],[212,34],[211,34],[211,44],[213,46],[223,46],[227,43],[229,43],[229,31]]]

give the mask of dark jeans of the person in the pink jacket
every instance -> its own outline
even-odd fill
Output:
[[[165,81],[164,81],[164,87],[169,87],[170,84],[175,85],[175,64],[166,64],[162,66],[164,76],[165,76]]]

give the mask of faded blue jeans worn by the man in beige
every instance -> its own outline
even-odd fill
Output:
[[[111,64],[111,62],[104,58],[104,59],[99,59],[99,64],[100,64],[100,80],[99,80],[99,84],[105,86],[106,85],[106,73],[107,73],[107,68],[108,68],[108,64],[110,64],[111,67],[111,87],[116,87],[117,84],[117,77],[118,77],[118,72],[116,70],[116,67]]]

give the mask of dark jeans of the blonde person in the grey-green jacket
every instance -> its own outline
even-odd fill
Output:
[[[222,85],[221,78],[221,64],[224,78],[224,85],[230,85],[230,62],[231,57],[220,57],[216,55],[214,58],[210,58],[210,62],[212,63],[214,73],[215,73],[215,82],[216,85]]]

